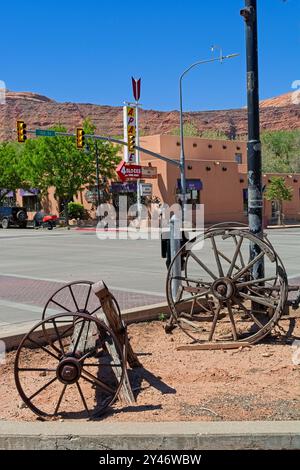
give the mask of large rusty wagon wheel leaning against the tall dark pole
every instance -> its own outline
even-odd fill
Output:
[[[251,262],[250,244],[259,247]],[[178,257],[184,259],[181,276],[173,274]],[[254,279],[261,258],[265,274]],[[245,229],[214,228],[187,242],[167,276],[171,327],[178,325],[199,343],[261,340],[278,322],[287,295],[286,272],[274,248]]]

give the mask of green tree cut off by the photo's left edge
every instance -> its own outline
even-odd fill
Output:
[[[10,191],[27,188],[22,171],[22,144],[4,142],[0,145],[0,204]]]

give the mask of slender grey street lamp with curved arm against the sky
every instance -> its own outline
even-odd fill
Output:
[[[212,50],[214,50],[217,46],[213,46]],[[207,60],[200,60],[195,62],[194,64],[190,65],[181,75],[179,78],[179,97],[180,97],[180,185],[181,185],[181,201],[183,212],[185,210],[185,203],[186,203],[186,175],[185,175],[185,153],[184,153],[184,135],[183,135],[183,109],[182,109],[182,79],[183,77],[194,67],[202,64],[208,64],[210,62],[223,62],[226,59],[233,59],[237,57],[239,54],[229,54],[223,56],[222,49],[220,48],[220,57],[207,59]]]

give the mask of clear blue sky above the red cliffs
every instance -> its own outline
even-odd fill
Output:
[[[300,79],[300,0],[258,0],[260,95]],[[131,75],[142,77],[144,108],[178,109],[178,77],[211,57],[210,46],[241,56],[201,65],[184,81],[185,110],[246,104],[244,0],[86,0],[1,4],[0,80],[13,91],[58,101],[122,105]]]

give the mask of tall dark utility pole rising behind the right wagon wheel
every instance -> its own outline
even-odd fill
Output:
[[[259,119],[259,79],[257,40],[257,1],[245,0],[241,15],[246,23],[247,100],[248,100],[248,219],[250,232],[263,238],[262,157]],[[260,254],[256,244],[250,246],[250,260]],[[253,266],[253,277],[264,277],[264,260]]]

